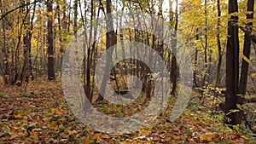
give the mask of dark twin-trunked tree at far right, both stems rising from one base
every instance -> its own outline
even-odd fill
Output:
[[[253,26],[253,7],[254,1],[247,1],[247,22],[246,27],[251,29]],[[225,113],[226,124],[241,124],[242,105],[245,101],[244,96],[247,89],[248,61],[250,59],[251,36],[245,32],[243,46],[243,60],[241,62],[241,75],[239,78],[239,39],[238,39],[238,5],[236,0],[230,0],[229,14],[231,18],[228,23],[228,42],[226,53],[226,93],[225,93]],[[240,80],[240,81],[239,81]]]

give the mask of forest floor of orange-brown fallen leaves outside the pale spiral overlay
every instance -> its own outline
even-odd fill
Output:
[[[193,93],[174,122],[163,113],[153,126],[124,135],[102,134],[79,122],[68,107],[61,82],[8,86],[0,82],[0,143],[254,143],[255,137],[211,115],[212,100]]]

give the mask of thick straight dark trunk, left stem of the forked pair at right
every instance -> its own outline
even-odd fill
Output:
[[[237,0],[229,0],[229,14],[238,11]],[[236,125],[237,109],[237,91],[238,91],[238,75],[239,75],[239,39],[238,26],[236,24],[237,16],[231,16],[228,22],[228,41],[226,53],[226,93],[225,93],[225,114],[226,124]]]

